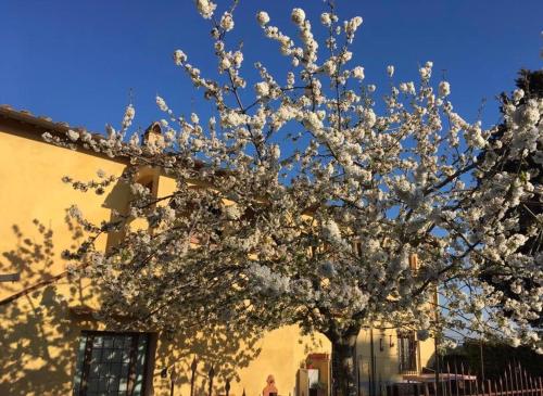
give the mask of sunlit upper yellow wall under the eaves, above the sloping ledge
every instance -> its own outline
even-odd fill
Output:
[[[31,270],[26,271],[28,273],[23,272],[17,284],[0,286],[0,297],[39,280],[42,276],[38,271],[41,269],[39,264],[46,265],[47,258],[54,258],[47,267],[47,273],[64,270],[60,254],[76,244],[73,240],[74,234],[65,221],[65,210],[70,205],[77,204],[86,217],[99,221],[109,219],[111,208],[121,200],[118,194],[117,196],[111,194],[112,189],[103,195],[75,191],[70,184],[61,181],[62,177],[70,175],[76,180],[97,180],[98,169],[118,175],[124,167],[125,165],[121,163],[104,161],[94,155],[56,148],[0,130],[0,179],[2,180],[0,250],[11,252],[17,246],[35,250],[29,257],[25,257],[26,261],[28,258],[35,259]],[[38,227],[33,223],[34,219],[43,225],[46,231],[52,231],[53,246],[50,253],[46,252],[47,246]],[[18,228],[20,237],[13,232],[13,227]],[[99,245],[103,245],[104,241],[105,239],[100,240]],[[41,253],[45,254],[42,257],[38,257],[39,251],[36,251],[38,247],[41,247]],[[12,261],[2,258],[4,265]],[[13,264],[13,270],[21,269],[15,267]],[[10,270],[9,267],[2,269]]]

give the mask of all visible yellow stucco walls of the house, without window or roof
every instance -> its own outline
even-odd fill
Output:
[[[0,273],[21,271],[21,281],[0,283],[0,299],[65,270],[60,253],[81,240],[74,239],[75,230],[65,222],[70,205],[77,204],[85,217],[99,222],[110,219],[112,208],[126,206],[128,194],[123,186],[112,187],[103,195],[81,193],[61,181],[66,175],[83,181],[97,179],[98,169],[119,175],[124,163],[47,144],[28,131],[28,126],[4,124],[0,123]],[[159,195],[174,188],[172,179],[160,178]],[[119,235],[109,241],[102,238],[99,244],[105,248],[115,238]],[[0,395],[71,394],[81,330],[104,329],[71,307],[91,305],[92,299],[96,296],[88,284],[62,278],[0,306]],[[330,354],[330,344],[323,335],[301,336],[296,327],[257,340],[245,334],[192,333],[175,340],[155,336],[154,344],[152,386],[148,388],[154,395],[169,395],[169,375],[163,379],[160,371],[173,366],[178,373],[175,394],[187,395],[190,362],[199,356],[199,394],[206,389],[205,374],[214,363],[217,395],[224,394],[224,380],[230,378],[230,395],[240,396],[244,389],[247,396],[257,396],[266,376],[274,374],[279,395],[294,396],[296,372],[307,354]],[[425,366],[431,354],[426,344],[420,345]],[[367,332],[362,332],[358,355],[364,357],[367,348]],[[388,350],[386,355],[378,360],[379,370],[383,376],[395,379],[397,352]]]

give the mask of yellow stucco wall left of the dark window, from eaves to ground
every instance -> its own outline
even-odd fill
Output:
[[[0,298],[65,270],[61,252],[80,241],[65,222],[71,204],[93,220],[109,219],[111,194],[83,194],[61,178],[90,180],[99,168],[124,168],[18,132],[16,126],[0,127],[0,271],[21,271],[20,282],[0,283]],[[105,238],[98,243],[103,246]],[[74,319],[68,306],[85,304],[87,289],[64,278],[0,307],[0,395],[70,394],[77,338],[92,327]]]

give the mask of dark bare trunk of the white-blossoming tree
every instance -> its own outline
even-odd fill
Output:
[[[356,337],[351,332],[330,340],[332,343],[332,396],[357,396]]]

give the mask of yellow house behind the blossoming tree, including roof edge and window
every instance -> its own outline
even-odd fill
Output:
[[[67,129],[0,106],[0,395],[191,395],[191,388],[207,395],[210,385],[213,395],[226,395],[229,380],[230,395],[257,396],[268,374],[281,396],[329,394],[330,344],[319,334],[302,336],[295,327],[257,340],[205,330],[118,333],[94,318],[92,290],[71,281],[61,258],[83,237],[66,221],[66,208],[77,204],[87,218],[109,220],[112,209],[125,207],[128,191],[116,186],[103,195],[81,193],[62,177],[91,180],[98,169],[119,175],[127,163],[41,138]],[[173,189],[171,179],[152,170],[141,173],[141,182],[159,195]],[[104,235],[98,243],[106,248],[118,238]],[[18,280],[5,281],[12,273]],[[381,394],[387,383],[419,372],[432,353],[433,342],[418,342],[413,332],[362,331],[361,394]]]

